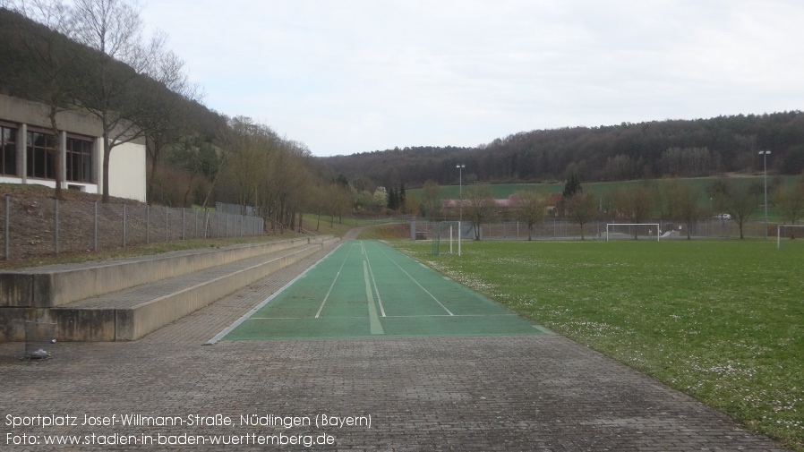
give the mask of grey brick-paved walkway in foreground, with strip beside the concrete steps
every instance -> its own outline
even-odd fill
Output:
[[[0,449],[783,450],[559,335],[203,345],[326,252],[139,341],[57,344],[41,362],[0,345]],[[77,425],[41,426],[65,416]],[[81,445],[43,444],[57,435]]]

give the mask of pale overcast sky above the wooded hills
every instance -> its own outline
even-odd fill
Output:
[[[205,93],[316,156],[804,109],[800,0],[150,0]]]

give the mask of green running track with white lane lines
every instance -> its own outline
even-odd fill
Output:
[[[545,333],[549,331],[384,243],[350,240],[216,338]]]

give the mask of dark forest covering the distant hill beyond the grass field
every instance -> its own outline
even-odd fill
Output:
[[[421,187],[430,180],[464,183],[543,183],[577,174],[584,182],[702,177],[763,170],[804,171],[804,114],[791,111],[711,119],[623,123],[518,132],[476,148],[415,147],[322,158],[349,180]],[[366,183],[368,183],[366,181]]]

